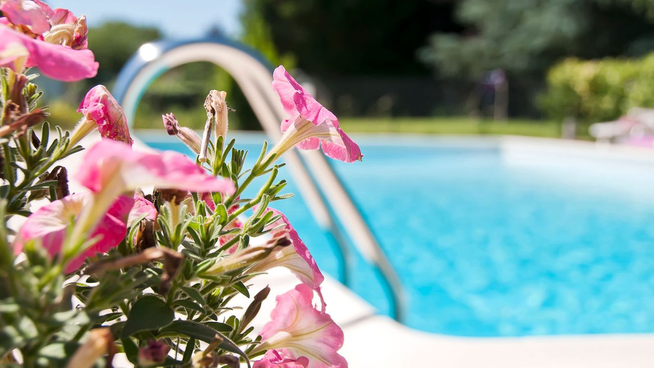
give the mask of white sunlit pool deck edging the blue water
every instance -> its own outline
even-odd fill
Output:
[[[568,152],[579,151],[582,154],[599,150],[601,155],[611,155],[613,158],[632,156],[654,162],[653,149],[613,149],[587,142],[553,139],[490,139],[497,139],[500,145],[508,145],[508,149],[522,153],[538,147],[540,149],[537,151],[551,149],[559,153],[562,152],[559,149]],[[97,139],[88,138],[82,144],[88,147],[95,140]],[[136,141],[135,148],[143,149],[145,146]],[[610,151],[617,156],[609,153]],[[75,168],[81,156],[74,155],[68,158],[65,164],[69,168]],[[71,189],[75,191],[74,183],[71,183]],[[252,280],[254,290],[266,285],[272,290],[271,296],[264,301],[261,312],[253,321],[255,332],[269,320],[270,311],[275,306],[273,295],[293,289],[298,283],[294,275],[280,268],[271,270],[267,276]],[[347,358],[349,366],[353,368],[654,367],[654,334],[511,338],[439,335],[411,329],[387,316],[377,314],[373,306],[329,276],[326,276],[322,284],[322,291],[328,304],[328,314],[341,326],[345,334],[345,344],[339,353]],[[124,360],[116,360],[114,363],[118,361],[120,363],[116,366],[126,366],[122,365],[126,363]]]

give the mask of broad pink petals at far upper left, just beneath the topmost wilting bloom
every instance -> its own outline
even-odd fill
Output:
[[[3,19],[5,18],[0,18]],[[73,82],[95,77],[97,74],[98,64],[91,50],[74,50],[69,46],[47,43],[10,28],[7,22],[0,22],[0,55],[4,55],[7,48],[15,49],[17,45],[24,47],[29,53],[25,66],[38,65],[41,72],[52,79]],[[21,70],[18,70],[15,62],[20,57],[3,57],[0,67],[10,67],[20,73]]]

